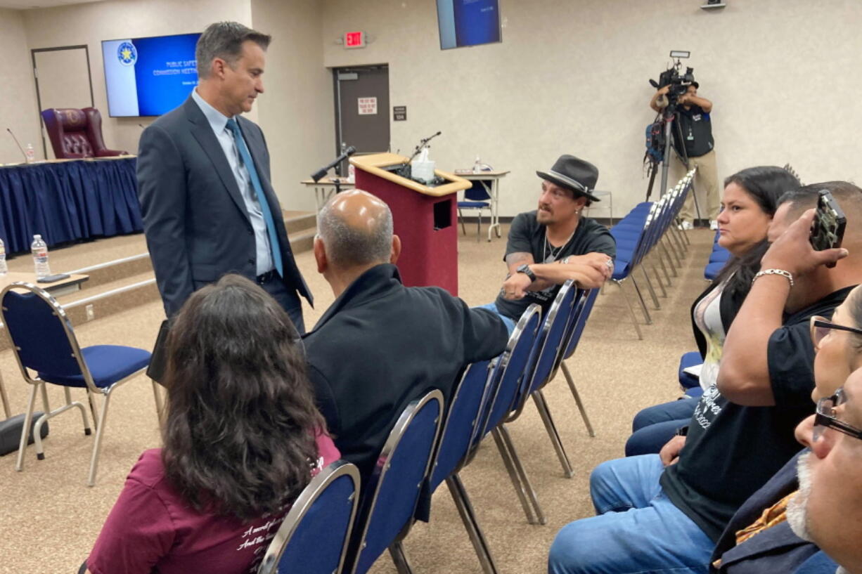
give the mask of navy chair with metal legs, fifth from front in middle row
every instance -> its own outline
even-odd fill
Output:
[[[548,437],[551,439],[553,449],[557,452],[559,464],[563,467],[563,474],[567,478],[574,476],[572,463],[565,454],[565,448],[559,439],[559,432],[553,422],[551,410],[548,409],[547,400],[542,394],[542,388],[551,380],[551,375],[559,365],[562,350],[565,347],[565,335],[569,332],[572,324],[572,309],[576,300],[580,299],[584,291],[578,290],[572,279],[561,285],[557,296],[551,307],[547,310],[545,321],[539,335],[534,343],[535,360],[531,371],[527,371],[522,381],[522,387],[515,399],[515,407],[512,413],[506,417],[506,422],[514,422],[521,416],[524,406],[529,397],[533,398],[536,409],[539,410],[542,423],[545,425]]]

